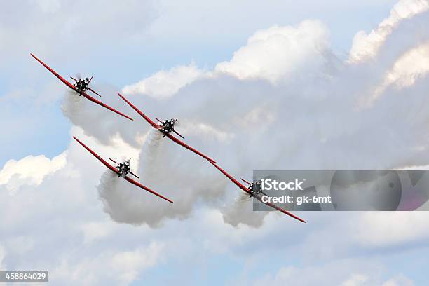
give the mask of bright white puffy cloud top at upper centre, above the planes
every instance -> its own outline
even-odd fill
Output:
[[[322,22],[308,20],[297,27],[273,26],[257,31],[229,62],[214,71],[238,79],[267,79],[276,83],[297,72],[314,71],[324,64],[329,32]]]

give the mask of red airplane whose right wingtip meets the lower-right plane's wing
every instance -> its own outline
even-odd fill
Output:
[[[155,128],[156,130],[161,132],[164,135],[163,137],[167,136],[168,138],[172,139],[172,141],[176,142],[177,144],[182,145],[186,149],[193,151],[193,153],[198,154],[198,155],[202,156],[203,158],[206,158],[208,161],[210,161],[212,163],[216,163],[216,161],[214,161],[212,158],[204,155],[203,153],[201,153],[200,151],[198,151],[196,149],[193,149],[188,144],[185,144],[184,142],[180,141],[179,139],[177,139],[176,137],[174,137],[173,135],[170,134],[170,132],[174,132],[175,134],[179,135],[180,137],[182,137],[184,139],[184,137],[182,135],[180,135],[175,130],[175,123],[176,123],[177,119],[170,119],[170,120],[161,121],[158,118],[155,118],[158,121],[158,124],[157,124],[154,121],[151,121],[151,118],[147,117],[142,111],[139,111],[139,109],[137,109],[137,107],[135,107],[131,102],[129,102],[125,97],[123,97],[123,95],[121,95],[121,93],[118,93],[118,95],[123,100],[125,100],[125,102],[127,102],[128,105],[130,105],[130,107],[132,107],[132,109],[137,111],[137,113],[140,114],[153,128]]]

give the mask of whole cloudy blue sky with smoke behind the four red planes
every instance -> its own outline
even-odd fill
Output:
[[[48,269],[55,285],[425,285],[425,212],[299,213],[307,224],[252,212],[115,93],[178,117],[186,142],[236,177],[425,168],[428,11],[427,0],[8,3],[0,270]],[[95,76],[135,121],[68,93],[29,53],[64,77]],[[175,204],[109,176],[71,136],[132,157]]]

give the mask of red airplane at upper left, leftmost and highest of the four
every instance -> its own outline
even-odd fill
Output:
[[[86,97],[88,100],[95,102],[96,104],[100,104],[102,107],[105,107],[111,111],[114,111],[116,114],[119,114],[125,118],[132,120],[132,118],[130,118],[129,116],[126,116],[121,111],[117,111],[113,107],[109,107],[109,105],[104,104],[103,102],[100,102],[100,100],[96,100],[94,97],[92,97],[92,96],[88,95],[88,93],[86,93],[86,90],[90,90],[93,93],[95,93],[96,95],[101,96],[97,92],[95,92],[95,90],[93,90],[92,88],[89,87],[89,83],[93,79],[93,76],[91,76],[90,79],[88,79],[88,78],[74,79],[73,77],[70,76],[70,78],[75,81],[74,84],[71,84],[71,83],[69,83],[69,81],[66,81],[62,76],[60,76],[60,74],[57,74],[56,71],[54,71],[53,69],[48,67],[47,64],[45,64],[44,62],[39,60],[35,55],[33,55],[32,53],[30,53],[30,55],[32,55],[32,57],[34,57],[38,62],[40,62],[43,65],[43,67],[46,67],[46,69],[48,69],[48,71],[52,72],[53,75],[56,76],[58,79],[60,79],[60,81],[62,81],[66,86],[68,86],[72,90],[76,91],[76,93],[79,93],[79,95],[83,95],[83,97]]]

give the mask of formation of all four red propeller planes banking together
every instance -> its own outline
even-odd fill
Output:
[[[90,88],[89,84],[93,79],[93,76],[91,76],[90,79],[85,78],[85,79],[80,79],[78,77],[78,79],[74,79],[73,77],[70,76],[70,78],[74,81],[74,83],[70,83],[69,81],[67,81],[66,79],[64,79],[62,76],[60,76],[60,74],[57,74],[56,71],[54,71],[53,69],[51,69],[50,67],[48,67],[47,64],[45,64],[44,62],[42,62],[41,60],[39,60],[39,58],[37,58],[35,55],[32,55],[32,57],[34,57],[34,59],[36,59],[38,62],[40,62],[43,67],[46,67],[46,69],[48,69],[48,71],[50,71],[54,76],[56,76],[58,79],[60,79],[60,81],[62,81],[62,83],[64,83],[66,86],[68,86],[69,88],[71,88],[71,90],[74,90],[76,92],[77,95],[79,96],[83,96],[86,97],[88,100],[90,100],[91,102],[94,102],[96,104],[99,104],[100,106],[109,109],[110,111],[113,111],[114,113],[123,116],[125,118],[128,118],[130,120],[133,120],[132,118],[130,118],[130,116],[126,116],[125,114],[123,114],[121,111],[118,111],[116,109],[114,109],[113,107],[109,107],[109,105],[104,104],[103,102],[100,102],[100,100],[96,100],[94,97],[88,95],[87,91],[89,90],[92,93],[95,93],[95,95],[98,95],[101,97],[100,94],[98,94],[95,90],[93,90],[92,88]],[[134,109],[135,111],[137,111],[137,113],[142,116],[144,118],[145,121],[147,121],[147,123],[149,123],[149,125],[151,125],[153,128],[155,128],[156,130],[158,130],[158,132],[161,132],[161,134],[163,135],[163,137],[168,137],[169,139],[172,140],[172,142],[175,142],[179,145],[181,145],[182,147],[189,149],[190,151],[192,151],[193,153],[205,158],[207,161],[209,161],[215,168],[217,168],[220,172],[222,172],[222,174],[224,174],[228,179],[231,180],[231,182],[233,182],[234,184],[236,184],[236,186],[238,186],[238,188],[242,189],[243,191],[245,191],[245,193],[247,193],[248,195],[250,195],[250,197],[254,197],[257,200],[261,201],[261,191],[259,188],[259,182],[247,182],[245,179],[241,179],[243,182],[245,182],[248,186],[245,186],[243,184],[241,184],[240,182],[238,182],[238,180],[234,179],[231,175],[229,175],[229,173],[227,173],[225,170],[223,170],[222,168],[219,167],[219,165],[217,165],[217,162],[214,161],[212,158],[206,156],[205,154],[201,153],[200,151],[194,149],[193,147],[190,147],[188,144],[182,142],[182,140],[177,139],[177,137],[173,136],[172,133],[174,133],[175,135],[181,137],[182,139],[184,139],[184,137],[182,135],[179,134],[179,132],[177,132],[175,130],[175,123],[177,122],[177,119],[170,119],[170,120],[165,120],[165,121],[161,121],[158,118],[155,118],[156,121],[158,121],[158,123],[154,122],[151,120],[151,118],[149,118],[147,115],[145,115],[142,111],[140,111],[139,109],[137,109],[137,107],[135,107],[134,104],[132,104],[130,101],[128,101],[123,95],[121,95],[120,93],[118,93],[119,97],[121,97],[128,105],[130,105],[130,107],[132,107],[132,109]],[[139,188],[144,189],[145,191],[148,191],[149,193],[153,193],[155,196],[158,196],[159,198],[163,198],[164,200],[167,200],[170,203],[173,203],[172,200],[170,200],[169,198],[165,198],[165,196],[162,196],[159,193],[156,193],[156,191],[153,191],[151,189],[149,189],[147,186],[144,186],[142,184],[140,184],[139,182],[135,181],[135,179],[131,179],[130,177],[128,177],[128,174],[136,177],[137,179],[139,179],[139,177],[137,175],[135,175],[134,173],[131,172],[130,170],[130,160],[128,159],[127,161],[123,162],[123,163],[117,163],[116,161],[114,161],[113,159],[109,158],[109,160],[114,163],[114,165],[111,165],[109,162],[107,162],[106,160],[104,160],[102,157],[100,157],[98,154],[95,153],[95,151],[93,151],[92,149],[90,149],[88,146],[86,146],[86,144],[83,144],[83,142],[81,142],[79,139],[77,139],[76,137],[73,137],[76,142],[79,142],[79,144],[82,145],[83,148],[85,148],[86,150],[88,150],[90,152],[90,154],[93,154],[93,156],[95,156],[95,158],[97,158],[101,163],[103,163],[109,170],[111,170],[112,172],[114,172],[116,175],[118,175],[118,177],[123,177],[123,179],[125,179],[126,181],[130,182],[131,184],[134,184],[135,186],[138,186]],[[304,219],[301,219],[299,217],[297,217],[296,215],[292,214],[291,212],[288,212],[287,210],[282,209],[281,207],[278,207],[277,205],[274,205],[272,203],[265,203],[266,205],[269,205],[270,207],[272,207],[275,210],[278,210],[284,214],[289,215],[290,217],[293,217],[294,219],[299,220],[300,222],[305,222]]]

